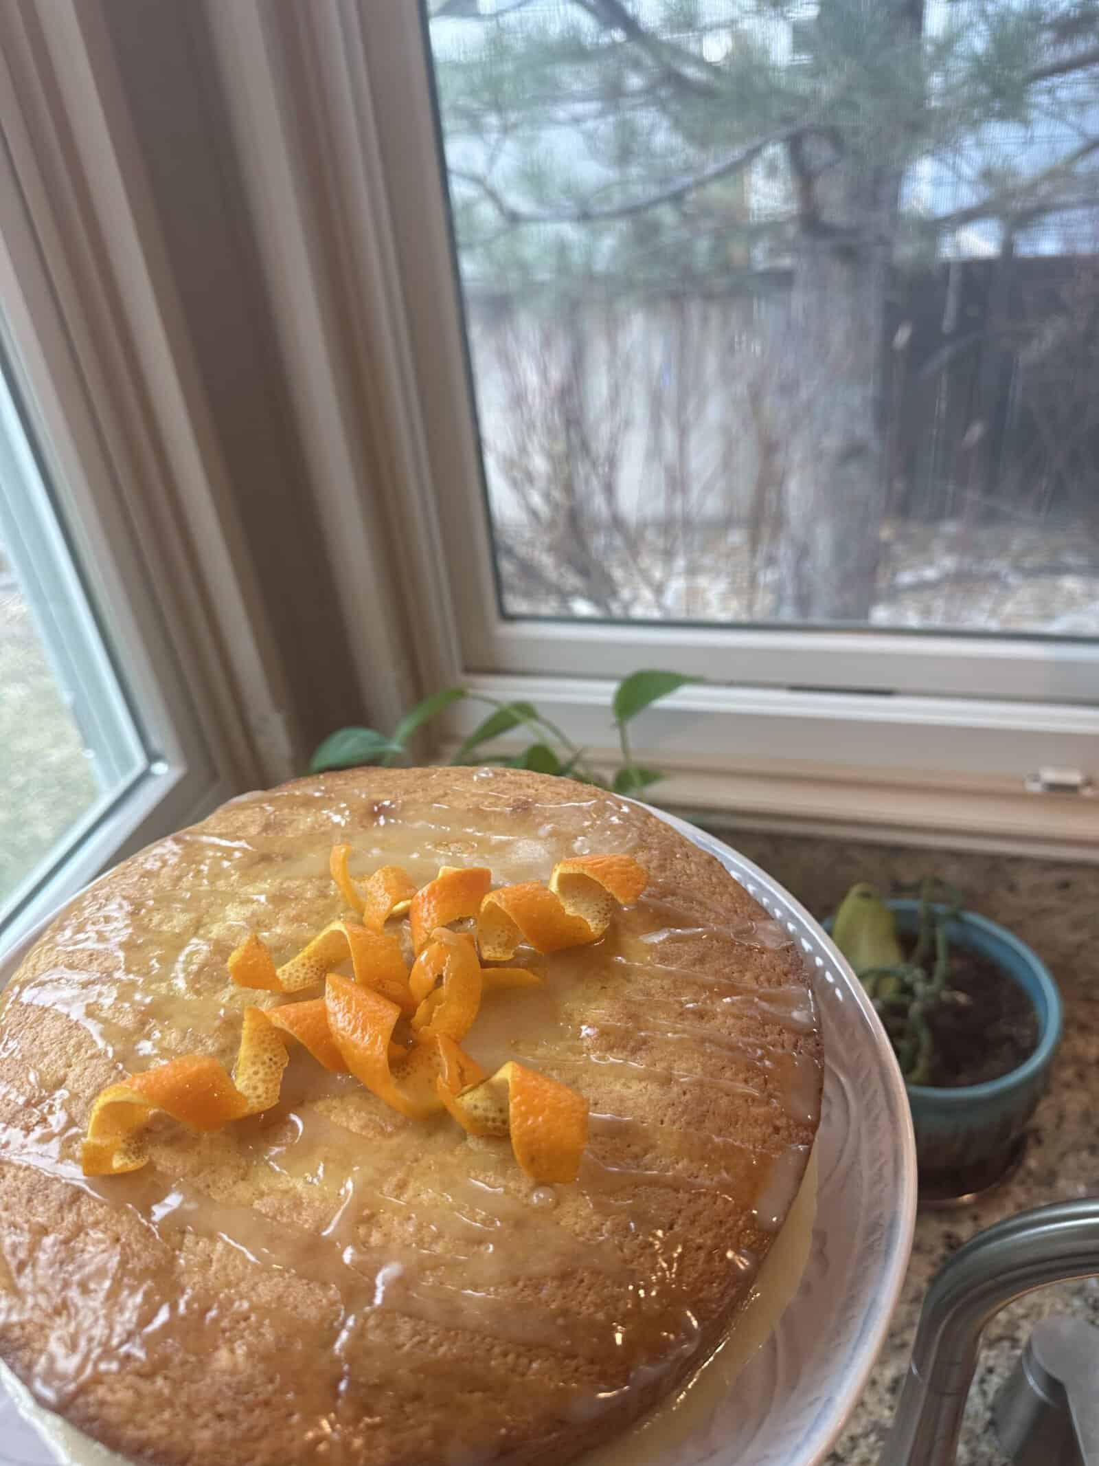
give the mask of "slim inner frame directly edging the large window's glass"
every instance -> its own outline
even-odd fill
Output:
[[[388,148],[390,205],[410,327],[422,334],[423,317],[445,321],[437,333],[437,347],[451,358],[448,371],[425,369],[422,380],[428,432],[440,440],[437,456],[460,463],[465,471],[462,482],[440,494],[438,513],[456,559],[476,567],[475,575],[454,582],[467,664],[500,673],[607,676],[630,660],[674,657],[677,668],[712,676],[719,657],[725,680],[756,686],[1039,702],[1083,702],[1095,696],[1099,641],[1083,638],[1052,641],[1004,633],[755,623],[570,622],[501,613],[476,438],[476,391],[465,345],[460,283],[451,262],[450,213],[441,174],[440,186],[432,188],[429,167],[432,155],[441,157],[441,128],[426,57],[422,48],[416,50],[421,29],[419,19],[413,23],[413,9],[418,7],[393,7],[372,18],[366,65],[375,84],[378,126]],[[399,125],[391,108],[397,95],[404,97]],[[397,180],[407,177],[421,179],[422,192],[397,188]],[[457,343],[454,325],[462,336]],[[469,440],[470,428],[472,441],[463,441]]]

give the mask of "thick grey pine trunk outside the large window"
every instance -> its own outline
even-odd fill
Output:
[[[860,9],[860,0],[826,3],[843,4],[848,19]],[[916,7],[894,0],[892,10],[898,44],[919,37]],[[784,620],[866,622],[875,600],[888,494],[885,305],[901,167],[882,163],[872,147],[873,139],[857,151],[829,128],[788,150],[799,236],[782,352],[788,438],[777,613]]]

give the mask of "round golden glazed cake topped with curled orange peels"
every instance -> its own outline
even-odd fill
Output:
[[[513,956],[485,941],[489,906],[520,910],[508,891],[550,910],[560,872],[598,875],[602,856],[643,890],[608,899],[598,940],[552,950],[516,918]],[[478,1073],[437,1080],[445,1108],[400,1113],[353,1058],[337,1072],[289,1039],[261,1113],[195,1129],[148,1097],[119,1104],[126,1076],[183,1075],[185,1056],[237,1063],[246,1088],[246,1012],[274,1032],[278,1009],[355,998],[350,962],[321,963],[327,988],[275,991],[245,959],[300,973],[296,954],[330,924],[358,931],[349,899],[393,868],[416,890],[486,871],[503,893],[479,927],[421,902],[438,950],[476,941],[484,965],[460,1036]],[[413,963],[416,902],[412,935],[407,902],[382,922]],[[399,1026],[388,1060],[375,1045],[382,1066],[445,1029],[444,987],[402,1017],[419,1035]],[[822,1082],[800,951],[717,861],[630,800],[501,768],[353,770],[232,800],[64,910],[0,1001],[0,1356],[155,1466],[573,1460],[733,1319],[797,1193]],[[508,1075],[513,1143],[476,1123],[482,1094],[507,1114]],[[141,1154],[114,1136],[89,1164],[103,1092]],[[563,1180],[538,1146],[574,1138],[580,1110]]]

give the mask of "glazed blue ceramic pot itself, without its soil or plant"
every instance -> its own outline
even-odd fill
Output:
[[[892,900],[901,937],[919,931],[919,902]],[[831,927],[831,922],[829,922]],[[977,951],[1018,984],[1037,1014],[1037,1047],[1018,1069],[982,1085],[907,1085],[916,1129],[920,1195],[960,1196],[996,1182],[1011,1163],[1049,1079],[1061,1039],[1061,994],[1045,963],[1004,927],[963,912],[948,927],[951,947]]]

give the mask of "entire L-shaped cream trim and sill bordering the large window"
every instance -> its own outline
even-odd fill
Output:
[[[1095,644],[500,617],[415,12],[334,0],[275,18],[262,0],[208,0],[237,145],[249,174],[268,174],[254,185],[256,233],[300,246],[295,259],[274,237],[265,248],[273,296],[295,302],[290,374],[302,394],[338,397],[341,384],[346,396],[353,383],[381,443],[369,485],[331,475],[321,491],[334,516],[349,494],[382,506],[399,575],[375,605],[429,668],[421,690],[463,680],[529,698],[608,752],[595,710],[613,680],[673,666],[712,685],[652,710],[634,737],[639,758],[676,776],[662,802],[1099,859],[1095,800],[1024,790],[1039,765],[1099,773]],[[275,120],[277,163],[264,169]],[[322,371],[292,336],[325,343]],[[353,440],[360,424],[344,415],[330,428]],[[472,717],[459,705],[450,730]]]

